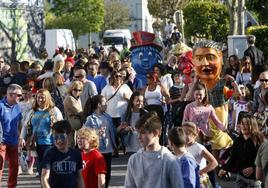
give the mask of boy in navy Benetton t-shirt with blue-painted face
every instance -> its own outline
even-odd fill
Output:
[[[70,123],[58,121],[52,129],[55,146],[48,150],[41,164],[42,187],[84,188],[81,154],[68,146]]]

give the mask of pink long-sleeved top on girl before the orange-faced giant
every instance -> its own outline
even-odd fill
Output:
[[[222,122],[218,119],[214,108],[210,104],[207,106],[197,106],[195,102],[191,102],[186,105],[183,113],[183,122],[194,122],[206,136],[210,136],[209,118],[220,130],[223,131],[226,129]]]

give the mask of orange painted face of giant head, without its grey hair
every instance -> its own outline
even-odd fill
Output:
[[[201,80],[215,80],[220,77],[222,53],[214,48],[197,48],[193,53],[193,64]]]

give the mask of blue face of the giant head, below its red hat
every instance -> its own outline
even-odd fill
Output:
[[[153,70],[154,64],[160,62],[162,57],[159,51],[152,46],[141,46],[131,52],[132,67],[137,73],[137,78],[146,84],[146,73]]]

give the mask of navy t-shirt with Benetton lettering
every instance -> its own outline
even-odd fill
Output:
[[[79,151],[69,149],[60,152],[56,147],[48,150],[42,168],[49,169],[49,185],[51,188],[77,187],[78,171],[82,169],[82,157]]]

